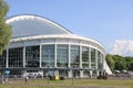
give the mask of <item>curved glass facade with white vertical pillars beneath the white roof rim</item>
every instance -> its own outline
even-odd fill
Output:
[[[83,76],[89,76],[90,70],[103,68],[103,53],[89,46],[44,44],[9,48],[3,52],[0,62],[0,67],[29,68],[29,70],[39,67],[43,68],[45,74],[48,74],[48,68],[52,68],[49,70],[52,73],[51,75],[58,70],[59,75],[65,77],[70,72],[68,69],[74,68],[76,69],[73,74],[74,77],[80,77],[81,72],[83,72]]]

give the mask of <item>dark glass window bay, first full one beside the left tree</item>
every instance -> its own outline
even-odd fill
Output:
[[[22,67],[23,47],[9,48],[9,67]]]

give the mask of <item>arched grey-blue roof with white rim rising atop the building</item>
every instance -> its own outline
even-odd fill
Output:
[[[37,15],[17,15],[8,19],[7,23],[12,25],[12,37],[71,34],[55,22]]]

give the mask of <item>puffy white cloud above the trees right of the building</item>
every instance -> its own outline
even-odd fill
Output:
[[[133,41],[115,40],[111,54],[117,54],[122,56],[133,56]]]

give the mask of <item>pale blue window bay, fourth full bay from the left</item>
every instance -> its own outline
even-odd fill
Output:
[[[68,67],[68,45],[57,45],[57,66]]]

